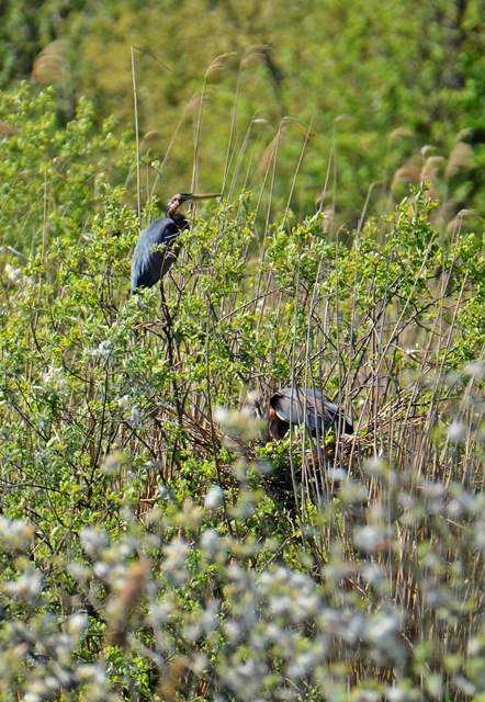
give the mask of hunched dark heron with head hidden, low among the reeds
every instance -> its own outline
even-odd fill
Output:
[[[284,387],[270,397],[269,429],[274,439],[283,439],[290,423],[306,423],[307,430],[322,437],[329,429],[353,433],[353,423],[336,403],[313,387]]]

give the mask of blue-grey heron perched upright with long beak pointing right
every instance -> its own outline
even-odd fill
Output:
[[[177,259],[176,241],[189,222],[179,212],[179,207],[188,202],[221,197],[221,193],[195,195],[179,193],[167,206],[167,216],[154,219],[140,234],[132,262],[132,295],[138,287],[151,287],[169,272]]]

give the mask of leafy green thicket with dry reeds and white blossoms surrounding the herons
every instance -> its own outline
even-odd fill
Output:
[[[0,117],[2,699],[481,699],[481,229],[243,193],[129,297],[131,138],[54,105]],[[354,437],[264,445],[290,382]]]

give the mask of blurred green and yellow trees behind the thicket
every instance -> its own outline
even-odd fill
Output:
[[[368,194],[381,214],[429,180],[450,226],[485,204],[484,5],[3,0],[0,86],[54,83],[60,121],[87,97],[122,131],[135,46],[142,155],[169,193],[246,188],[271,218],[291,195],[298,220],[351,229]],[[154,186],[166,200],[149,168]]]

